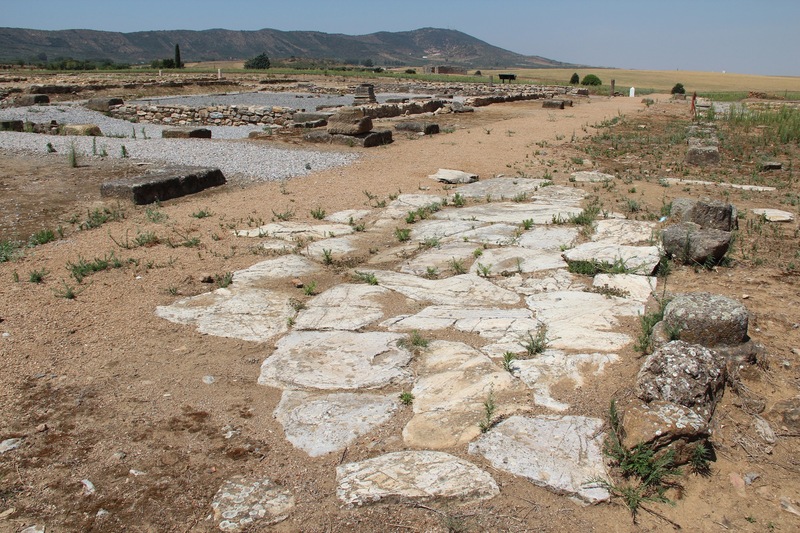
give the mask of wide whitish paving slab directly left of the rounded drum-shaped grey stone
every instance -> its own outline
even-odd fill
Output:
[[[633,341],[616,331],[619,317],[644,313],[644,304],[591,292],[561,291],[526,298],[536,318],[547,326],[551,348],[616,352]]]

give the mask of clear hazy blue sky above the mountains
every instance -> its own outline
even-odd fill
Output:
[[[800,76],[800,0],[0,0],[43,30],[459,30],[592,66]]]

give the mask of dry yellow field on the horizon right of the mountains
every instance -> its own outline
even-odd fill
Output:
[[[518,69],[483,70],[483,75],[510,72],[518,79],[544,84],[567,83],[573,72],[583,79],[594,74],[610,85],[616,80],[617,87],[641,87],[669,92],[676,83],[682,83],[687,93],[697,92],[748,92],[759,91],[779,94],[785,91],[800,92],[800,77],[754,76],[749,74],[723,74],[721,72],[697,72],[689,70],[623,70],[623,69]]]

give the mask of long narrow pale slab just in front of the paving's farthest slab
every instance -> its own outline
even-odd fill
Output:
[[[522,224],[531,220],[534,224],[550,224],[553,219],[568,219],[578,215],[582,208],[574,205],[558,205],[530,202],[497,202],[446,209],[433,215],[439,220],[472,220],[486,223]]]

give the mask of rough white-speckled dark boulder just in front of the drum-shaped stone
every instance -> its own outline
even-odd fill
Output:
[[[636,376],[636,396],[690,407],[711,419],[722,398],[725,359],[698,344],[671,341],[645,359]]]

